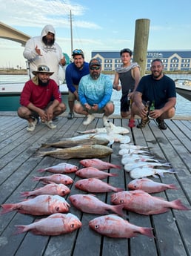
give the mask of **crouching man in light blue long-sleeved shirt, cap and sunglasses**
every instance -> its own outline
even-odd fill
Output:
[[[110,77],[101,74],[101,62],[92,59],[89,64],[90,74],[83,76],[79,82],[79,101],[74,105],[74,111],[87,116],[84,125],[90,125],[95,119],[94,113],[104,113],[103,122],[107,126],[107,117],[114,112],[113,102],[110,100],[113,85]]]

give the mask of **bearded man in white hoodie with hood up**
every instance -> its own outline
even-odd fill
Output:
[[[59,65],[64,66],[66,60],[61,47],[55,42],[56,31],[52,25],[47,24],[41,31],[41,36],[29,39],[24,47],[23,56],[30,65],[30,77],[39,65],[47,65],[53,71],[52,79],[59,85]]]

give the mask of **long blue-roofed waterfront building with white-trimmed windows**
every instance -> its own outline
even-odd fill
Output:
[[[120,50],[93,50],[92,58],[101,61],[102,70],[115,70],[121,65]],[[161,59],[166,71],[191,70],[191,50],[148,50],[146,70],[150,70],[153,59]]]

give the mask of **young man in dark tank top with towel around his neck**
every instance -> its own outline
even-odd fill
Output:
[[[121,117],[125,118],[130,115],[130,128],[135,127],[135,119],[130,111],[130,102],[133,101],[133,95],[140,80],[140,70],[136,62],[131,62],[132,51],[129,48],[124,48],[120,51],[121,67],[115,69],[115,78],[113,81],[113,89],[122,91],[121,96]],[[121,86],[119,85],[119,80]],[[128,98],[130,99],[128,101]]]

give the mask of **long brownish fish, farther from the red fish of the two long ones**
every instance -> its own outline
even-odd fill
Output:
[[[93,137],[93,134],[86,137],[76,136],[67,139],[59,140],[58,142],[44,143],[42,148],[71,148],[77,145],[108,145],[110,143],[107,138]]]

